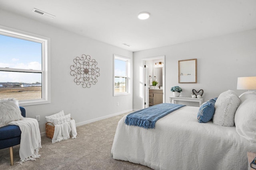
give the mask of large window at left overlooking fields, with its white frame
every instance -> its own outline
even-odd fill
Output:
[[[0,98],[20,106],[50,102],[49,39],[0,27]]]

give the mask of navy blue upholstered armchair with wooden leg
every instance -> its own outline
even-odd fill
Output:
[[[26,117],[26,110],[24,107],[20,107],[20,111],[23,117]],[[10,161],[13,165],[12,147],[20,144],[20,127],[16,125],[7,125],[0,127],[0,149],[10,149]]]

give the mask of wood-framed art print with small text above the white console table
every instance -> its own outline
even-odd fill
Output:
[[[196,59],[178,61],[179,83],[197,83]]]

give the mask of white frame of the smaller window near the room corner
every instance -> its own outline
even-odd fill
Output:
[[[115,92],[115,60],[116,59],[126,61],[126,75],[127,75],[127,78],[126,78],[126,92],[119,92],[119,93]],[[113,94],[114,94],[114,96],[122,96],[122,95],[130,94],[130,70],[131,70],[130,62],[131,62],[130,58],[114,54],[114,76],[113,76]]]

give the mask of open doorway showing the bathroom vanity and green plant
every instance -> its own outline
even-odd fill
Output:
[[[143,108],[165,103],[165,56],[142,59]]]

